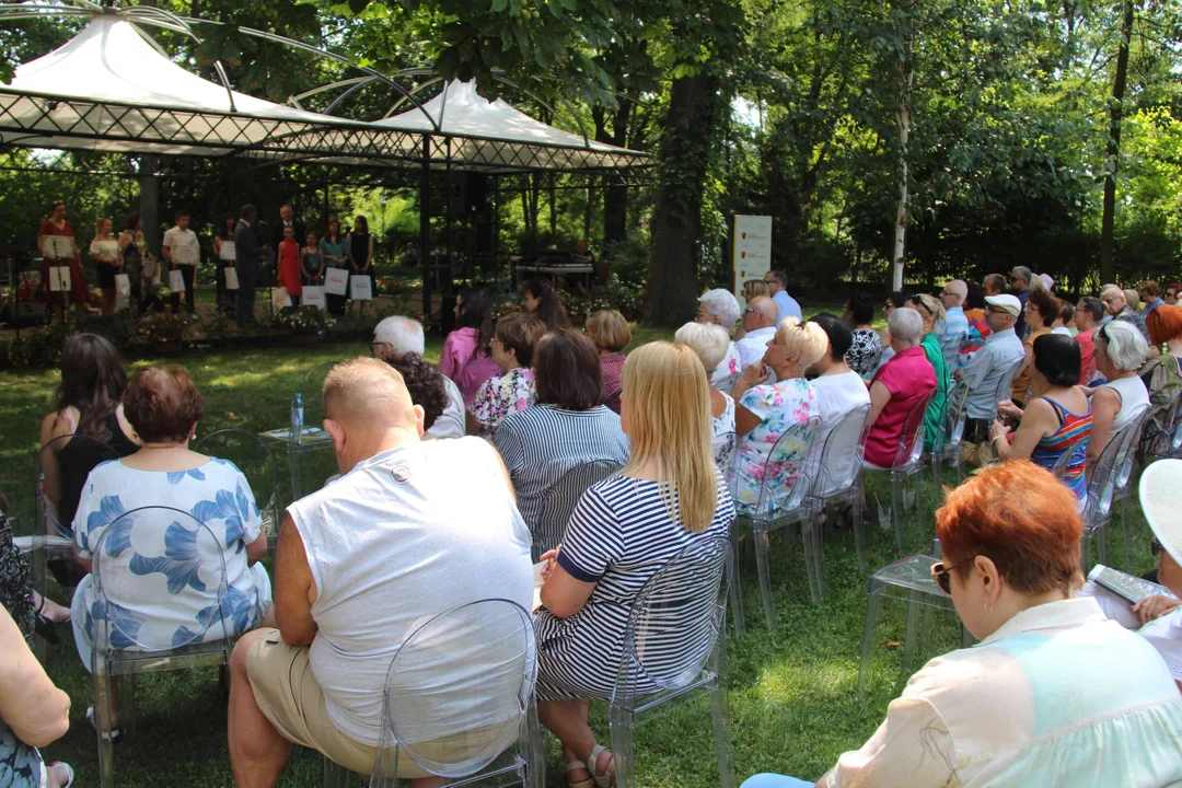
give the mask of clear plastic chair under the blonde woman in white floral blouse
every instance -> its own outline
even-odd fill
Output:
[[[759,590],[764,599],[764,618],[767,620],[768,627],[775,625],[775,614],[772,611],[771,571],[767,561],[768,534],[772,530],[800,523],[800,541],[804,546],[808,588],[814,599],[820,598],[820,584],[817,578],[817,565],[820,564],[820,534],[816,527],[817,499],[811,495],[823,448],[820,441],[813,439],[818,424],[820,424],[820,417],[812,416],[805,424],[792,426],[777,438],[775,445],[772,447],[772,451],[764,463],[765,471],[759,488],[759,501],[753,510],[740,510],[730,528],[730,539],[736,555],[739,554],[739,539],[743,532],[752,534],[752,541],[755,543],[755,565],[759,571]],[[795,463],[795,476],[788,477],[786,473],[768,471],[769,468],[778,469],[788,464],[788,447],[799,442],[801,436],[805,438],[804,456],[792,458]],[[735,506],[739,507],[738,502]],[[742,636],[746,634],[746,621],[742,611],[742,588],[739,582],[738,562],[732,597],[735,631]]]

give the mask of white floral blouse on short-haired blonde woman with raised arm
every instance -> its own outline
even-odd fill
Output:
[[[819,415],[817,390],[804,378],[791,378],[779,383],[753,386],[743,393],[739,404],[760,418],[739,444],[735,462],[735,501],[742,514],[762,514],[773,508],[772,501],[760,507],[760,487],[767,480],[771,489],[791,488],[805,461],[812,430],[808,419]],[[780,444],[775,457],[772,449],[780,436],[792,437]],[[764,512],[756,512],[762,508]]]

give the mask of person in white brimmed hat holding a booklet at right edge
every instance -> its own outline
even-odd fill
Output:
[[[1089,580],[1079,595],[1096,597],[1100,610],[1126,629],[1137,630],[1157,649],[1182,690],[1182,460],[1158,460],[1141,475],[1141,508],[1154,532],[1157,548],[1157,582],[1173,597],[1152,594],[1136,605]],[[1095,571],[1092,575],[1095,575]]]

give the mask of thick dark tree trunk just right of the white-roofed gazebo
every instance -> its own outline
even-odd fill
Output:
[[[651,226],[648,287],[651,325],[677,326],[694,315],[702,189],[717,92],[719,78],[713,74],[673,80],[661,151],[661,185]]]

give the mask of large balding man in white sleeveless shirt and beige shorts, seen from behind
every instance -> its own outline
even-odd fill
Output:
[[[336,366],[324,409],[344,476],[287,509],[274,572],[279,629],[247,633],[230,658],[240,787],[277,784],[292,743],[369,774],[385,675],[409,632],[466,603],[533,601],[530,530],[492,447],[423,442],[422,408],[378,359]],[[474,728],[487,722],[472,714]],[[411,784],[436,784],[409,757],[398,766]]]

